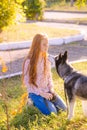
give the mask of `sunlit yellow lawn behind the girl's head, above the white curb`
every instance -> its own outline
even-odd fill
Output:
[[[79,34],[77,30],[59,29],[56,27],[39,26],[36,23],[20,23],[9,27],[1,33],[1,42],[32,40],[36,33],[47,33],[49,38]]]

